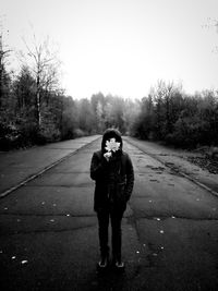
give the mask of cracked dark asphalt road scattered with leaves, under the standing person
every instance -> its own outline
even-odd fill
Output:
[[[36,174],[55,166],[0,199],[1,290],[218,290],[218,197],[128,138],[124,149],[133,160],[135,186],[122,223],[126,268],[123,274],[97,271],[89,163],[100,140],[88,142],[73,154],[57,145],[56,161],[69,155],[57,165],[51,146],[29,150],[26,170]],[[68,149],[76,143],[69,142]],[[20,160],[26,163],[23,154]],[[12,175],[13,185],[32,177],[22,162],[15,168],[8,167],[8,183]]]

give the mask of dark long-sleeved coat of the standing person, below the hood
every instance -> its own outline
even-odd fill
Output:
[[[95,180],[94,210],[114,207],[125,210],[126,202],[133,191],[134,171],[129,155],[120,155],[107,161],[104,151],[95,151],[90,162],[90,178]]]

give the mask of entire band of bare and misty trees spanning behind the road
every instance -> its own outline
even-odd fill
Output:
[[[0,36],[0,149],[101,134],[110,126],[179,147],[218,145],[218,92],[187,95],[173,82],[158,81],[141,100],[102,93],[77,100],[59,84],[60,62],[49,40],[34,36],[25,46],[21,69],[11,72],[11,50]]]

